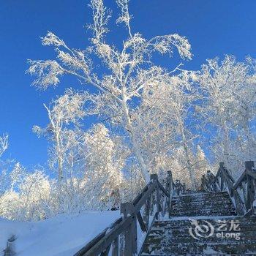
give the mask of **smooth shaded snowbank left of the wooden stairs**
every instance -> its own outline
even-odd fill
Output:
[[[119,217],[119,211],[59,215],[40,222],[15,222],[0,218],[0,255],[7,239],[16,236],[17,256],[70,256]]]

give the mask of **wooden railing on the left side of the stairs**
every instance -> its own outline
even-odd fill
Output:
[[[167,172],[165,188],[158,181],[157,174],[132,203],[121,203],[121,217],[99,233],[74,256],[132,256],[138,253],[137,222],[147,232],[150,220],[159,219],[160,214],[170,214],[173,195],[173,178]]]

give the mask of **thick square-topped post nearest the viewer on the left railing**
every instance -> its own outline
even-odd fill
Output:
[[[131,225],[124,231],[124,256],[135,255],[138,251],[137,221],[133,209],[132,203],[121,203],[120,212],[124,214],[124,218],[132,216]]]

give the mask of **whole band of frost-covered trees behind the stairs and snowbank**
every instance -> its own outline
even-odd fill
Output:
[[[53,46],[56,59],[29,61],[27,72],[37,88],[57,86],[69,75],[78,78],[81,89],[67,89],[45,104],[48,124],[33,128],[48,139],[53,174],[18,164],[3,169],[1,216],[44,219],[110,210],[131,200],[150,173],[163,179],[172,170],[174,179],[196,189],[202,174],[217,170],[219,162],[238,175],[245,160],[255,159],[255,60],[225,56],[207,60],[197,71],[182,64],[159,67],[156,53],[192,59],[187,38],[145,39],[132,31],[128,1],[116,4],[116,23],[127,31],[118,46],[108,42],[110,10],[102,0],[91,0],[85,50],[48,32],[42,45]],[[97,122],[84,130],[91,116]]]

